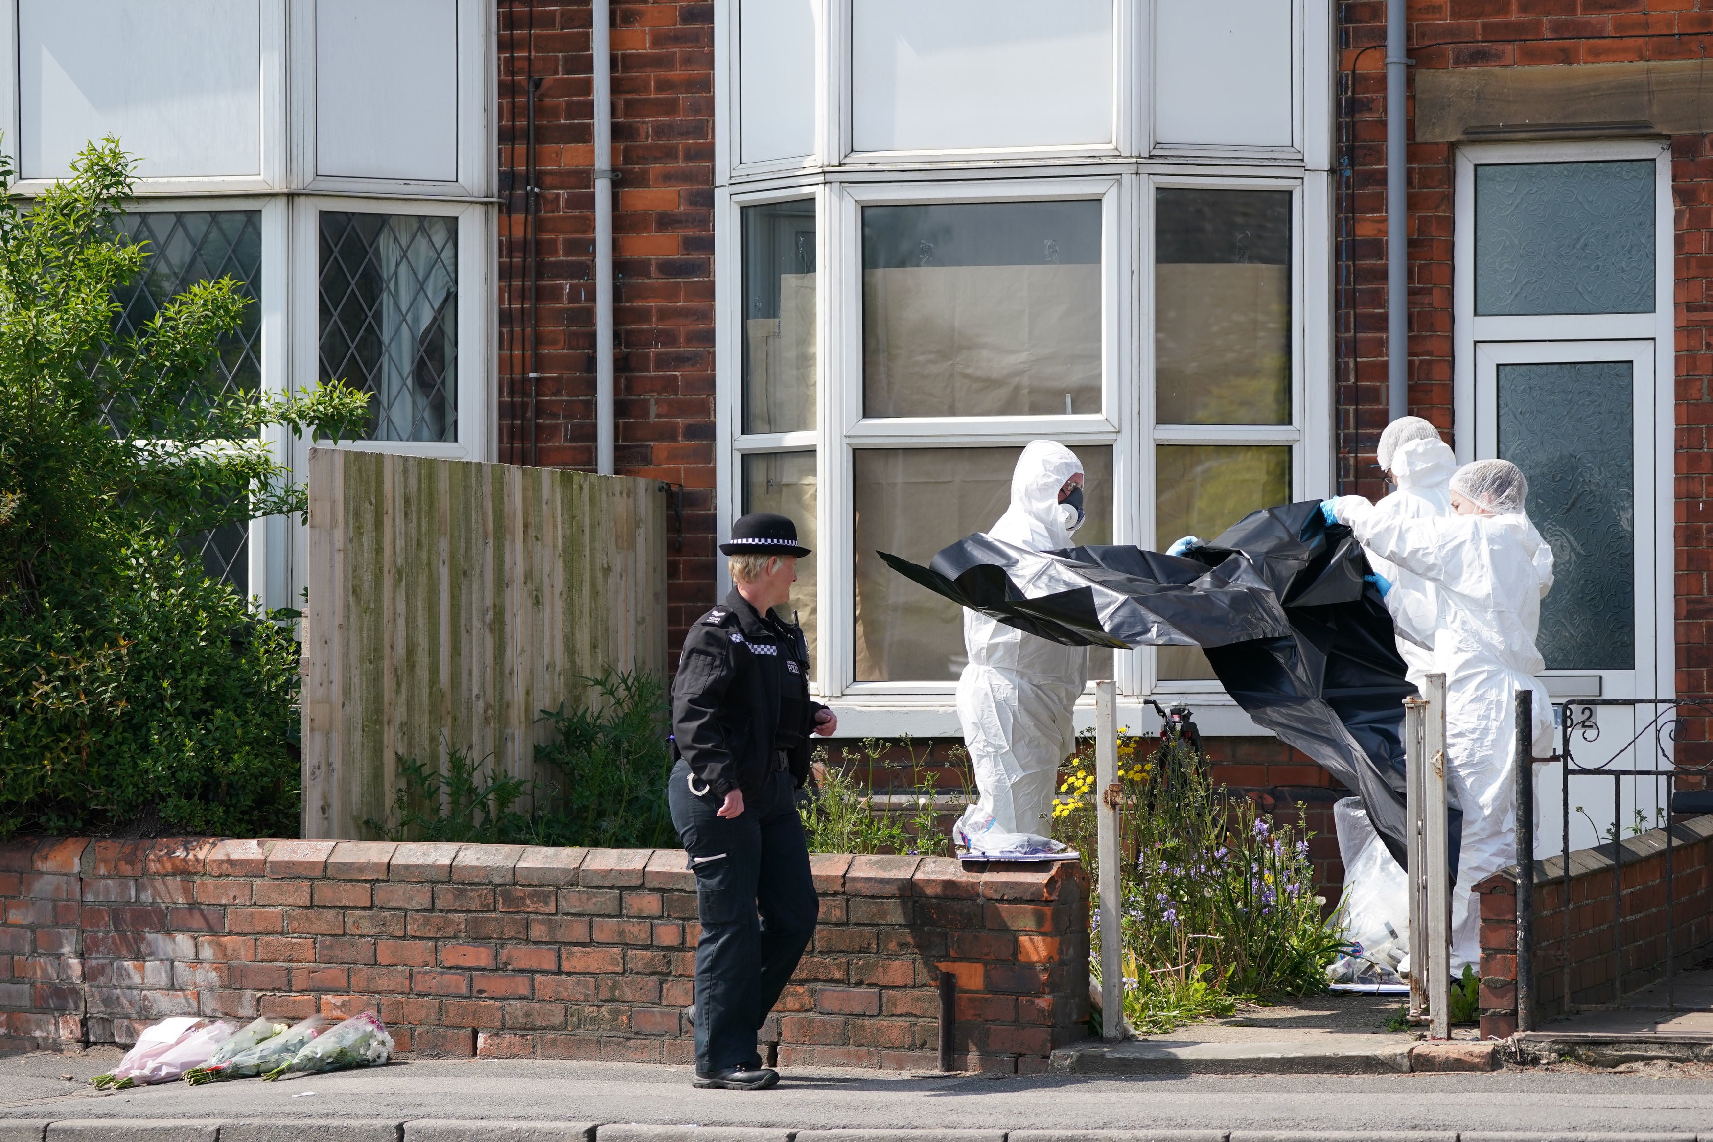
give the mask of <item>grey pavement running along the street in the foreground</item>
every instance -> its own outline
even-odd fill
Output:
[[[115,1060],[116,1051],[0,1058],[0,1142],[1125,1142],[1084,1137],[1091,1130],[1204,1142],[1684,1142],[1699,1132],[1713,1142],[1713,1082],[1704,1079],[1713,1068],[1704,1065],[1189,1079],[841,1070],[786,1072],[776,1091],[740,1094],[694,1091],[671,1067],[423,1060],[267,1084],[94,1092],[89,1075]],[[683,1130],[690,1123],[701,1130]],[[812,1130],[860,1133],[817,1139]]]

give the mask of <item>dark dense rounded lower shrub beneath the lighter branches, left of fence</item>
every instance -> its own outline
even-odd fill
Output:
[[[139,538],[86,606],[0,610],[0,836],[130,822],[298,834],[296,664],[173,544]]]

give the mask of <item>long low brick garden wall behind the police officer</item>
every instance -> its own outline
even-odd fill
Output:
[[[1088,1017],[1076,863],[815,856],[821,928],[769,1020],[783,1065],[1035,1074]],[[375,1010],[440,1056],[692,1062],[695,882],[673,849],[358,841],[0,846],[0,1050],[164,1015]]]

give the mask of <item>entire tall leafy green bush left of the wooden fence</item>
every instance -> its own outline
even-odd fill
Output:
[[[295,836],[296,651],[178,541],[303,510],[260,430],[348,433],[367,397],[223,394],[230,279],[116,334],[134,163],[108,139],[72,166],[26,205],[0,158],[0,834]]]

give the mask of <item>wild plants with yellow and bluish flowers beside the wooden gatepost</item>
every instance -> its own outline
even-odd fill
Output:
[[[1307,834],[1215,784],[1187,743],[1163,741],[1148,758],[1139,745],[1129,736],[1119,745],[1131,1026],[1161,1032],[1230,1014],[1238,998],[1324,991],[1341,938],[1314,895]],[[1084,743],[1067,762],[1055,832],[1098,877],[1089,755]],[[1095,933],[1096,967],[1103,935]]]

